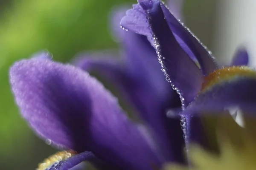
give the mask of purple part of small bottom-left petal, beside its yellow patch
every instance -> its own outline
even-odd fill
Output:
[[[47,170],[69,170],[82,161],[93,161],[96,157],[91,152],[83,152],[78,155],[72,156],[64,161],[57,161]],[[71,169],[70,169],[71,170]],[[75,170],[75,169],[74,169]]]

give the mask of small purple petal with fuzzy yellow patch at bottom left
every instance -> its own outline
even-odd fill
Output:
[[[37,170],[69,170],[70,168],[81,163],[82,161],[93,161],[96,157],[91,152],[83,152],[71,156],[71,153],[62,151],[50,156],[43,163],[39,164]],[[70,169],[70,170],[71,170]]]

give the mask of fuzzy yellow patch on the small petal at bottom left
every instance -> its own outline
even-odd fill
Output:
[[[57,152],[45,159],[44,162],[38,164],[37,170],[45,170],[52,165],[59,163],[60,161],[64,161],[74,155],[76,155],[76,152],[73,150]]]

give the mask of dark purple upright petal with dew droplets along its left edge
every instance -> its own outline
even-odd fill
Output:
[[[140,2],[140,1],[139,1]],[[172,31],[166,23],[160,2],[151,3],[143,1],[147,10],[148,23],[150,24],[155,39],[160,63],[168,81],[172,82],[178,93],[185,99],[184,104],[191,102],[201,88],[203,75],[195,62],[180,48]]]

